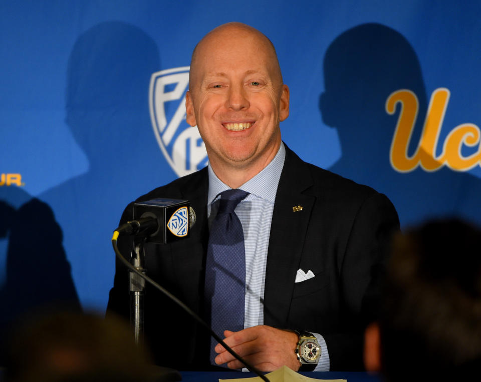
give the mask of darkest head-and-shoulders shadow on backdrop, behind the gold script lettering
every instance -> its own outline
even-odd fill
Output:
[[[342,149],[329,170],[386,194],[401,226],[433,216],[481,224],[481,179],[447,167],[434,172],[418,167],[408,173],[391,167],[389,151],[400,107],[388,115],[387,98],[399,89],[409,89],[418,98],[409,156],[417,149],[427,110],[418,58],[401,34],[380,24],[354,27],[331,43],[323,69],[325,91],[319,107],[324,123],[337,129]]]

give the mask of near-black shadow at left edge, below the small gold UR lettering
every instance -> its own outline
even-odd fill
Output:
[[[0,238],[8,240],[6,277],[0,288],[0,364],[5,338],[15,322],[32,312],[81,311],[62,230],[49,205],[21,188],[0,189]]]

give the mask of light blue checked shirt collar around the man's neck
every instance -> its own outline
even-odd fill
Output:
[[[271,203],[276,200],[277,186],[279,185],[279,179],[281,178],[282,168],[284,167],[284,159],[286,158],[286,148],[284,143],[281,142],[279,151],[274,159],[269,163],[259,174],[254,178],[248,180],[239,189],[247,191],[259,198],[265,199]],[[230,187],[223,183],[214,174],[210,163],[208,164],[209,173],[209,193],[207,198],[207,204],[210,205],[215,197],[225,190],[230,190]],[[266,185],[269,185],[267,187]],[[275,187],[274,187],[275,186]],[[249,196],[248,196],[249,197]]]

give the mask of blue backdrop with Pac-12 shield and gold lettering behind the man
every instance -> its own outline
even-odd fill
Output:
[[[282,135],[304,160],[385,193],[403,227],[481,223],[479,15],[441,0],[0,3],[2,319],[105,309],[124,207],[206,165],[188,65],[229,21],[276,46]]]

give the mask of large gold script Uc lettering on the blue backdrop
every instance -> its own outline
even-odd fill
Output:
[[[386,112],[394,114],[396,105],[401,105],[396,130],[392,138],[389,159],[391,166],[399,172],[409,172],[421,166],[425,171],[436,171],[447,166],[454,171],[467,171],[481,166],[481,146],[466,157],[462,156],[463,146],[479,145],[481,132],[472,123],[463,123],[452,129],[444,140],[442,152],[436,156],[439,132],[446,113],[450,93],[448,89],[436,89],[429,101],[421,138],[415,153],[408,156],[407,150],[419,111],[416,95],[410,90],[401,89],[389,95],[386,100]]]

